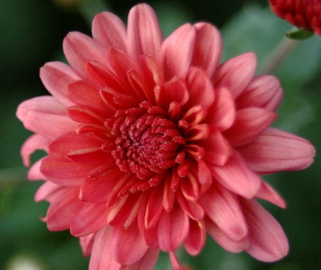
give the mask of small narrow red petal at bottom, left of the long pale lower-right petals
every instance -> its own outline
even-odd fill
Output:
[[[206,229],[203,219],[198,221],[190,220],[190,229],[184,240],[186,251],[190,255],[197,255],[203,249],[206,241]]]

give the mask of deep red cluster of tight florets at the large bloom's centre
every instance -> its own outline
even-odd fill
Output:
[[[148,113],[145,108],[118,110],[106,125],[116,136],[111,155],[119,169],[141,180],[163,175],[185,159],[180,155],[185,139],[173,120],[161,113]]]

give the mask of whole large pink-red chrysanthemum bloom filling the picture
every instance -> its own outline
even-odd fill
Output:
[[[280,224],[255,198],[285,207],[259,175],[301,170],[315,150],[269,125],[282,99],[273,76],[254,76],[245,53],[219,65],[222,41],[206,23],[163,40],[153,9],[131,9],[128,27],[103,12],[93,38],[69,33],[70,66],[46,63],[52,96],[17,116],[35,134],[21,149],[48,155],[29,170],[45,180],[51,231],[80,237],[89,269],[152,269],[160,250],[200,252],[210,234],[231,252],[275,261],[287,254]]]

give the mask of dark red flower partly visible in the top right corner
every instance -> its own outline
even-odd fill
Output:
[[[272,11],[297,28],[321,34],[320,0],[268,0]]]

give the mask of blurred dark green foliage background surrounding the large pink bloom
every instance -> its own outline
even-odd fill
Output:
[[[223,60],[254,51],[258,73],[291,26],[275,17],[264,0],[146,1],[158,14],[164,36],[185,21],[210,21],[223,33]],[[39,68],[47,61],[64,61],[63,37],[69,31],[90,35],[91,20],[108,10],[126,21],[126,0],[0,0],[0,269],[85,270],[78,239],[69,232],[49,232],[39,217],[48,204],[34,202],[41,182],[26,180],[19,149],[31,133],[15,117],[17,105],[46,95]],[[208,238],[203,252],[180,261],[205,270],[317,270],[320,268],[320,37],[297,44],[272,71],[282,83],[285,98],[275,126],[310,140],[317,149],[315,163],[301,172],[265,177],[287,201],[287,209],[264,206],[282,224],[290,254],[265,264],[245,252],[230,254]],[[36,153],[33,160],[43,155]],[[161,254],[155,269],[170,269]],[[106,269],[107,270],[107,269]],[[143,269],[142,269],[143,270]]]

